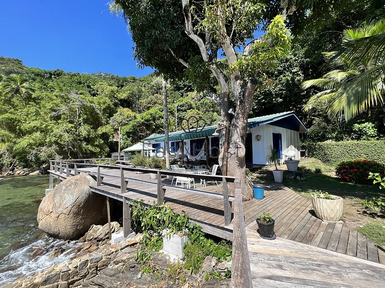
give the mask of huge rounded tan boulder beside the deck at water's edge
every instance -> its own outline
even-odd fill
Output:
[[[56,238],[77,239],[91,225],[106,223],[106,197],[91,192],[89,186],[96,186],[96,181],[86,173],[57,185],[40,204],[39,228]]]

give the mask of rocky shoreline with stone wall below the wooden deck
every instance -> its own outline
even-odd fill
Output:
[[[100,239],[106,235],[105,226],[91,227],[80,241]],[[88,234],[88,235],[87,235]],[[99,235],[96,236],[95,235]],[[159,271],[155,274],[142,274],[142,264],[135,261],[135,255],[141,247],[142,235],[137,234],[133,239],[112,244],[107,240],[90,240],[74,251],[73,258],[60,265],[46,269],[42,273],[24,276],[17,281],[5,284],[0,288],[216,288],[230,287],[230,279],[220,282],[205,280],[206,273],[217,271],[224,273],[231,269],[231,263],[216,263],[215,258],[208,256],[201,271],[192,275],[187,270],[180,270],[178,275],[170,273],[172,262],[169,255],[160,252],[153,253],[151,265]],[[54,252],[55,253],[55,252]],[[61,253],[60,249],[56,253]],[[55,256],[55,255],[53,255]]]

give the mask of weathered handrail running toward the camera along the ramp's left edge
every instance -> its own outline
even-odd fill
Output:
[[[233,223],[233,259],[231,268],[231,286],[233,288],[253,288],[249,251],[247,249],[245,218],[242,205],[240,179],[235,184],[234,223]]]

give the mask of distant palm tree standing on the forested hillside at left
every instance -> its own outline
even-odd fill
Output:
[[[0,93],[8,97],[10,100],[15,96],[19,96],[27,106],[28,96],[35,92],[33,84],[27,77],[19,75],[9,75],[0,82]]]

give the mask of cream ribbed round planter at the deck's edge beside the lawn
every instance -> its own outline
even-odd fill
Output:
[[[334,199],[321,199],[312,195],[312,204],[317,217],[326,221],[339,221],[343,211],[343,199],[330,195]]]

